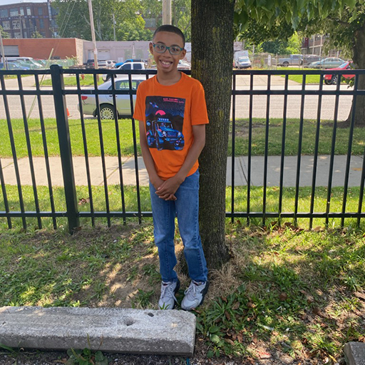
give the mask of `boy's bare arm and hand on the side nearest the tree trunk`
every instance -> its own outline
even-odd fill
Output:
[[[192,134],[194,135],[194,142],[192,143],[180,170],[173,178],[163,181],[156,191],[156,194],[161,199],[172,200],[171,197],[175,197],[174,194],[176,190],[178,190],[179,186],[184,182],[187,174],[192,169],[192,166],[195,164],[195,161],[200,156],[200,153],[205,146],[205,124],[192,125]]]

